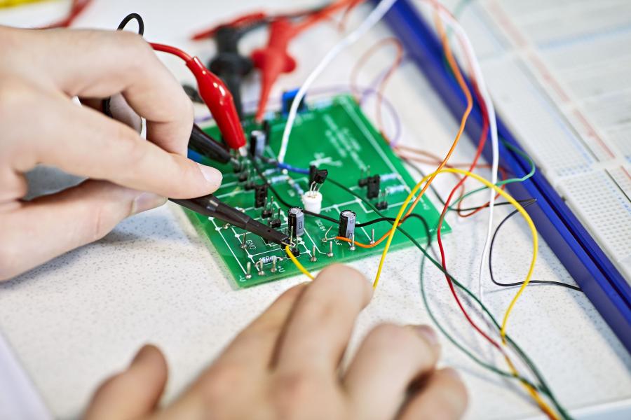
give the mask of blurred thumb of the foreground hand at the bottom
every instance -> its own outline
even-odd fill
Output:
[[[88,420],[135,419],[154,411],[167,380],[166,360],[156,346],[147,344],[124,372],[107,379],[86,411]]]

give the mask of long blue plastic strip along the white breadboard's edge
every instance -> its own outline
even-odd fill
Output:
[[[419,15],[418,10],[409,0],[399,0],[386,14],[385,20],[454,117],[460,118],[466,108],[466,98],[456,81],[445,70],[440,41]],[[497,123],[499,136],[509,144],[521,148],[499,118]],[[482,116],[476,106],[466,125],[466,132],[471,139],[477,139],[481,130]],[[502,144],[499,146],[502,165],[509,168],[515,177],[524,176],[529,172],[528,162],[520,155]],[[484,156],[491,160],[488,141],[484,148]],[[536,172],[531,179],[523,183],[511,183],[508,188],[515,197],[536,198],[536,205],[529,206],[528,212],[538,232],[618,335],[627,351],[631,352],[631,287],[622,274],[613,266],[541,172]]]

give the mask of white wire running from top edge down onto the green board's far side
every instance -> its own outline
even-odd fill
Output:
[[[302,99],[304,98],[304,95],[306,94],[309,87],[311,87],[311,84],[315,81],[316,78],[318,78],[318,76],[320,76],[320,73],[322,73],[323,70],[329,64],[331,64],[333,59],[341,51],[348,47],[348,45],[351,45],[352,43],[357,41],[360,36],[365,34],[370,28],[372,28],[376,24],[376,22],[379,22],[379,20],[384,17],[388,10],[390,10],[395,1],[397,0],[380,1],[379,4],[367,16],[366,20],[364,20],[361,25],[355,28],[351,33],[346,35],[341,41],[335,44],[333,48],[331,48],[329,52],[327,52],[327,55],[324,56],[322,61],[320,61],[318,66],[316,66],[315,69],[311,71],[311,74],[309,74],[309,76],[304,80],[304,83],[301,85],[298,93],[296,94],[296,97],[294,98],[294,101],[292,102],[289,115],[287,116],[285,130],[283,130],[283,141],[280,143],[280,151],[278,151],[278,162],[282,163],[285,161],[285,154],[287,153],[287,146],[289,145],[290,134],[292,133],[294,121],[296,120],[296,114],[298,113],[298,106],[300,102],[302,102]]]

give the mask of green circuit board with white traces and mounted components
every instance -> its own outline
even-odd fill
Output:
[[[274,113],[268,119],[269,139],[264,149],[266,158],[276,159],[285,120],[286,118],[280,113]],[[246,134],[260,128],[252,118],[246,118],[243,127]],[[205,131],[219,138],[216,127],[207,127]],[[208,162],[224,174],[222,186],[215,196],[226,204],[245,211],[252,218],[269,223],[271,219],[262,218],[262,209],[254,206],[254,190],[246,188],[247,183],[252,186],[252,183],[262,184],[264,181],[251,167],[251,162],[246,160],[242,163],[244,169],[241,172],[235,172],[231,165],[217,166],[215,163]],[[391,151],[381,134],[369,123],[355,99],[348,95],[313,102],[306,110],[299,113],[294,123],[285,163],[299,168],[315,165],[318,169],[327,169],[329,179],[351,188],[363,197],[366,196],[367,188],[360,187],[358,181],[368,173],[379,174],[382,180],[381,196],[369,201],[373,204],[385,201],[387,208],[382,210],[382,213],[388,217],[397,215],[401,204],[415,185],[412,176]],[[303,207],[300,191],[309,190],[307,174],[283,171],[260,161],[258,165],[285,202],[295,207]],[[243,180],[244,173],[247,173],[247,180]],[[323,194],[320,214],[339,220],[341,211],[351,210],[357,215],[357,223],[379,218],[365,203],[333,183],[325,181],[320,188],[320,193]],[[273,197],[271,190],[269,197]],[[280,204],[277,197],[273,198],[276,200],[270,199],[267,208],[273,208],[272,218],[280,215],[281,225],[278,230],[286,231],[287,207]],[[425,218],[431,234],[435,235],[439,213],[427,197],[421,198],[414,213]],[[285,250],[280,246],[266,244],[260,237],[252,234],[246,235],[244,241],[244,231],[239,228],[225,225],[214,218],[201,216],[192,211],[186,210],[186,214],[198,231],[210,239],[212,247],[217,250],[239,287],[254,286],[299,274],[297,267],[287,258]],[[372,239],[372,229],[374,229],[374,238],[379,239],[390,228],[391,223],[388,221],[375,223],[366,228],[357,228],[355,240],[369,244]],[[405,229],[421,243],[426,239],[423,223],[416,218],[409,218],[405,222]],[[446,233],[450,230],[445,223],[442,232]],[[335,237],[337,231],[336,223],[308,214],[304,215],[304,235],[299,237],[296,246],[299,251],[297,258],[306,269],[313,272],[332,262],[358,260],[381,254],[383,251],[384,243],[374,248],[355,246],[355,249],[351,249],[351,245],[347,242],[336,239],[327,240]],[[315,254],[312,255],[314,246]],[[407,246],[412,246],[410,241],[400,233],[395,234],[391,249]],[[275,264],[271,262],[274,259],[276,259]],[[248,262],[250,262],[250,272],[248,272]],[[275,270],[273,265],[275,265]]]

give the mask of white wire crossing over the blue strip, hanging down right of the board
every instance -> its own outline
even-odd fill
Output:
[[[434,7],[437,7],[434,2],[432,2]],[[460,44],[462,48],[466,50],[466,54],[468,55],[471,67],[473,71],[473,75],[475,80],[477,81],[477,88],[480,91],[480,96],[482,96],[482,101],[487,108],[487,118],[489,119],[489,128],[491,132],[491,149],[492,149],[492,159],[491,159],[491,183],[497,183],[497,171],[499,165],[499,152],[498,152],[498,138],[497,138],[497,120],[495,115],[495,108],[493,106],[493,102],[491,101],[491,97],[489,96],[489,92],[487,91],[487,85],[484,83],[484,76],[482,75],[482,70],[480,69],[480,63],[477,61],[477,56],[475,55],[475,51],[473,50],[473,45],[471,45],[471,41],[467,36],[464,29],[460,26],[460,24],[454,19],[454,17],[442,8],[437,8],[440,18],[447,22],[447,25],[451,27],[455,32],[456,36],[458,36]],[[484,239],[484,248],[482,248],[482,259],[480,260],[480,272],[478,276],[478,298],[480,302],[484,302],[484,294],[483,294],[483,277],[484,277],[484,267],[486,266],[487,261],[487,253],[489,253],[489,246],[491,244],[491,233],[493,232],[493,209],[495,205],[495,191],[489,188],[490,198],[489,198],[489,223],[487,227],[487,237]]]

